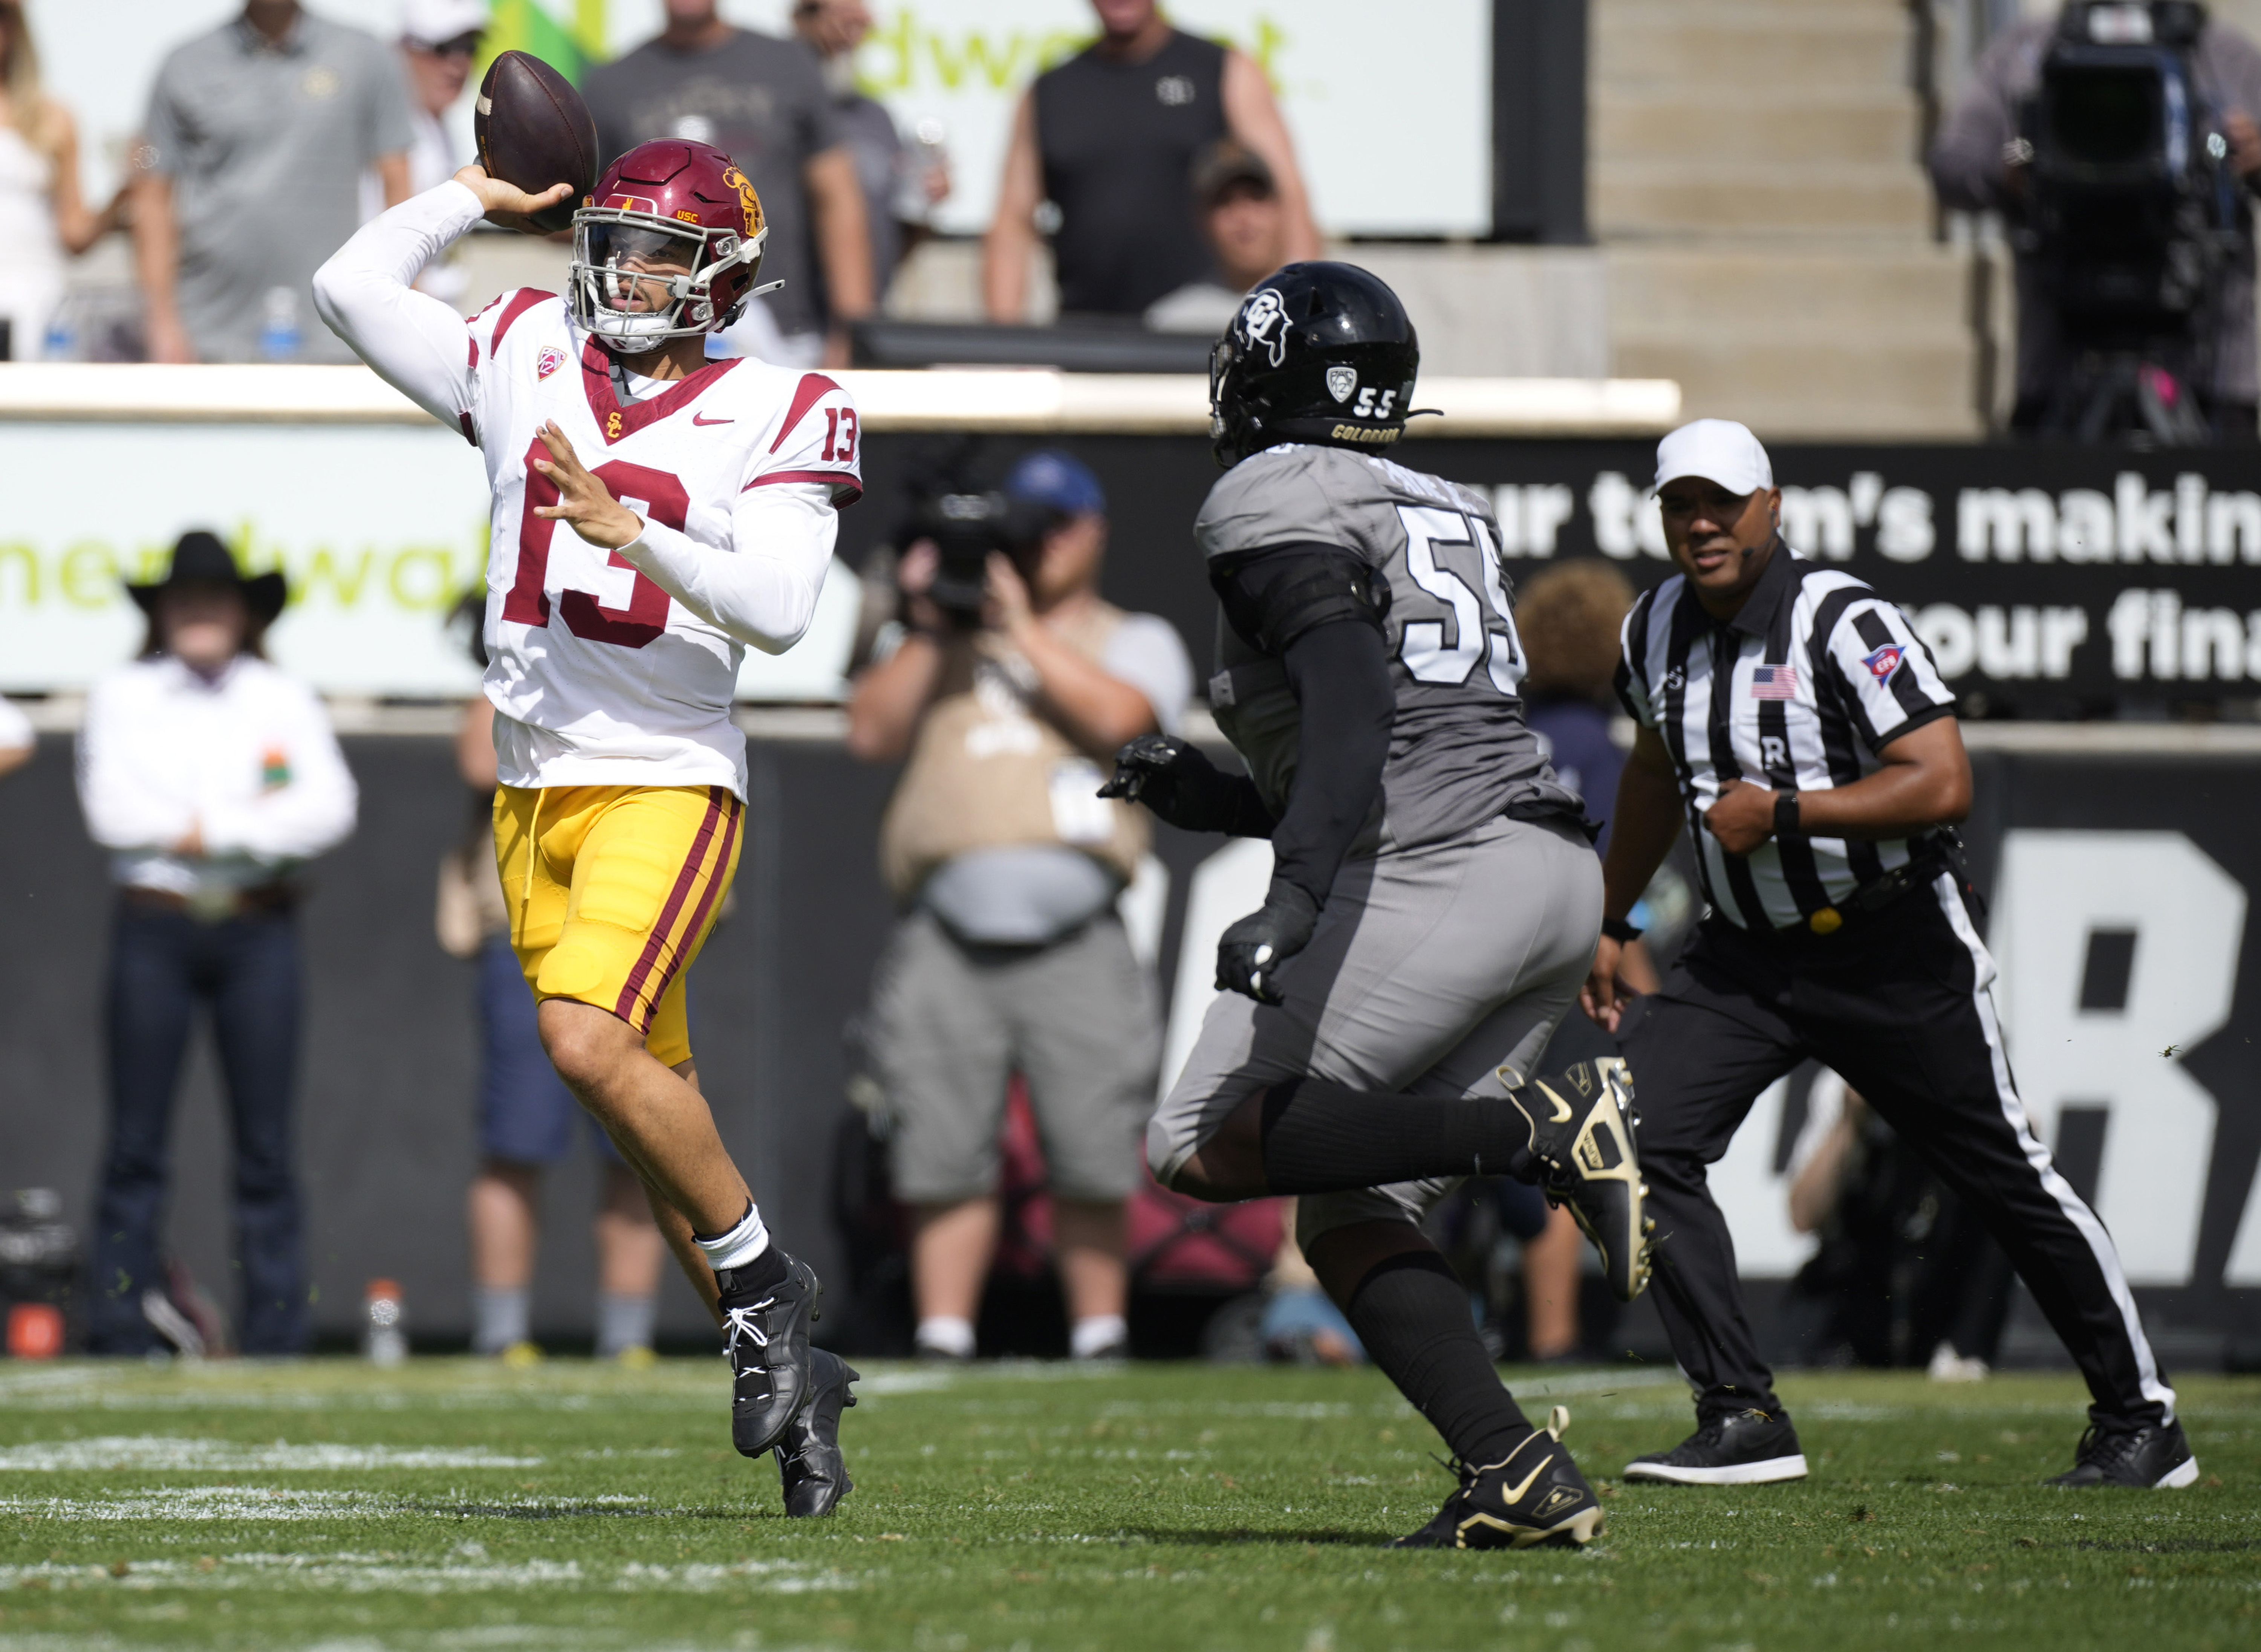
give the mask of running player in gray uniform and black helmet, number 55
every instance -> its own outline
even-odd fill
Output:
[[[1228,466],[1194,527],[1223,599],[1216,721],[1250,775],[1149,734],[1110,795],[1268,836],[1264,906],[1146,1132],[1171,1189],[1296,1193],[1298,1236],[1458,1489],[1409,1546],[1585,1544],[1601,1505],[1499,1383],[1422,1214],[1467,1175],[1569,1200],[1619,1297],[1648,1277],[1617,1060],[1535,1080],[1601,931],[1583,805],[1524,728],[1524,655],[1485,499],[1391,463],[1420,346],[1363,269],[1262,282],[1210,366]]]

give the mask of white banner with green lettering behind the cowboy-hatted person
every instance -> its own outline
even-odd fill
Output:
[[[289,579],[267,651],[323,694],[477,692],[466,633],[445,621],[486,574],[488,493],[457,432],[11,425],[0,497],[0,689],[84,689],[131,658],[142,612],[127,581],[161,576],[172,542],[203,527],[244,567]],[[568,583],[626,601],[624,569],[570,531],[558,545],[581,551],[563,565]],[[837,569],[800,646],[746,651],[739,694],[834,698],[855,612],[857,583]]]

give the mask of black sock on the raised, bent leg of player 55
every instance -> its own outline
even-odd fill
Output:
[[[1531,1125],[1506,1101],[1381,1096],[1293,1078],[1264,1096],[1264,1182],[1273,1193],[1339,1193],[1431,1175],[1515,1175]]]

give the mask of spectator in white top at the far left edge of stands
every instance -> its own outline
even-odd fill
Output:
[[[0,362],[36,362],[63,303],[63,260],[124,219],[124,190],[99,212],[79,197],[79,129],[38,84],[23,0],[0,0]]]

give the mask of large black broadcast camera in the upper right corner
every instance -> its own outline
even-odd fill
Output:
[[[2193,70],[2204,25],[2193,0],[2076,0],[2042,59],[2006,158],[2028,167],[2019,251],[2082,357],[2044,429],[2211,434],[2191,391],[2211,380],[2209,321],[2250,217]]]

